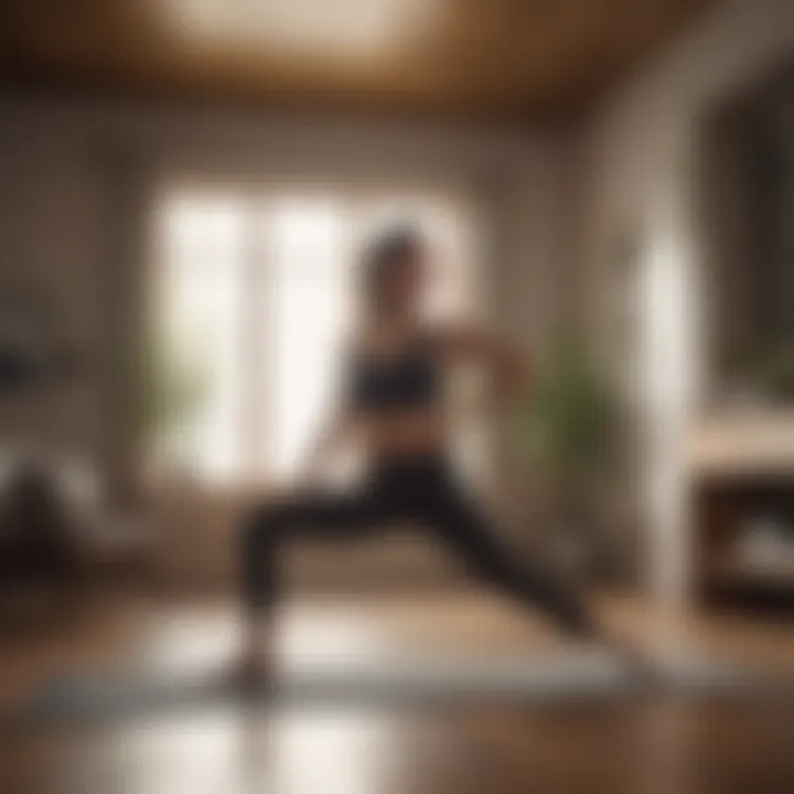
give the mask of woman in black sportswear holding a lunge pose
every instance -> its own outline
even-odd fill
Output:
[[[501,548],[482,507],[455,476],[448,457],[444,374],[460,365],[484,368],[498,401],[524,388],[527,372],[521,357],[490,334],[421,323],[427,267],[428,247],[411,228],[376,239],[363,261],[363,322],[346,363],[342,405],[310,473],[321,476],[340,442],[355,437],[368,460],[364,482],[347,493],[308,486],[255,511],[244,526],[244,669],[250,674],[269,667],[269,618],[285,541],[363,535],[395,521],[425,527],[479,578],[539,607],[567,632],[594,634],[573,592]]]

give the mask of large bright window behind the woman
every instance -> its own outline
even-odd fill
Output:
[[[378,226],[410,218],[427,228],[437,261],[428,312],[478,310],[473,216],[450,196],[179,187],[155,218],[155,476],[221,484],[296,470],[354,315],[356,251]]]

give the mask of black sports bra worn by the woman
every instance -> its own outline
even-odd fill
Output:
[[[357,352],[348,373],[348,404],[367,414],[436,404],[441,395],[442,373],[430,341],[418,336],[394,356]]]

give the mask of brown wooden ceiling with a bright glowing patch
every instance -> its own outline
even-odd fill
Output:
[[[6,85],[532,118],[713,0],[3,0]]]

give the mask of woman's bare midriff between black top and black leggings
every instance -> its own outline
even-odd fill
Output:
[[[437,409],[365,415],[356,426],[363,447],[375,458],[421,455],[447,444],[447,421]]]

